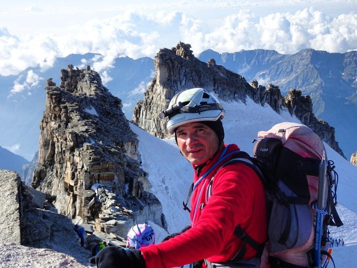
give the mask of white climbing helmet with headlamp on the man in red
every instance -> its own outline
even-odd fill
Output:
[[[216,97],[203,88],[191,88],[173,96],[159,116],[167,116],[167,131],[173,134],[176,128],[188,123],[222,119],[224,109]]]

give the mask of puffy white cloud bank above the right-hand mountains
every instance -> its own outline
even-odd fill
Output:
[[[273,49],[293,54],[305,48],[344,53],[357,49],[357,14],[331,19],[314,8],[291,13],[272,13],[259,18],[248,11],[225,18],[210,33],[195,34],[201,49],[235,52],[241,49]],[[202,28],[202,27],[201,27]]]

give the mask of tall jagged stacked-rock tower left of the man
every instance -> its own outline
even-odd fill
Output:
[[[148,192],[138,140],[121,100],[90,67],[61,70],[61,85],[47,80],[38,164],[31,186],[54,197],[60,214],[125,236],[136,223],[166,227],[162,206]]]

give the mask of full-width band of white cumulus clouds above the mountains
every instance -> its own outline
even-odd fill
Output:
[[[233,4],[229,2],[222,7],[230,8]],[[37,9],[32,6],[29,10]],[[105,74],[116,57],[153,58],[159,49],[171,48],[179,41],[191,44],[195,55],[205,49],[222,53],[262,48],[284,54],[304,48],[340,53],[357,49],[355,12],[331,18],[315,8],[305,8],[294,13],[276,12],[259,17],[249,10],[235,8],[222,18],[198,17],[181,11],[143,14],[129,9],[107,19],[71,25],[61,36],[15,37],[2,28],[0,74],[17,74],[29,66],[46,70],[56,57],[87,52],[102,55],[94,59],[91,66]],[[13,90],[21,91],[21,86]]]

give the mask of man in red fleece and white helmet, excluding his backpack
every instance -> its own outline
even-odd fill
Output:
[[[239,147],[223,142],[222,104],[203,88],[192,88],[175,95],[160,117],[167,117],[168,132],[195,170],[191,228],[139,250],[105,249],[97,255],[97,266],[166,268],[204,260],[201,267],[238,267],[232,264],[238,262],[239,267],[259,267],[262,247],[257,245],[267,240],[264,188],[248,165],[223,167]],[[242,233],[256,249],[237,237]]]

